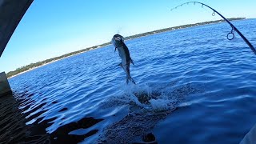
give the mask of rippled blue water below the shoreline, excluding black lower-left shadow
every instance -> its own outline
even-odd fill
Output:
[[[256,20],[233,23],[256,46]],[[222,22],[126,41],[137,86],[126,86],[114,46],[20,74],[10,86],[26,125],[45,123],[56,141],[130,143],[152,133],[158,143],[238,143],[256,122],[256,56],[229,32]]]

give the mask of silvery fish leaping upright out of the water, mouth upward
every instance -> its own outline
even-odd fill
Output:
[[[124,42],[124,38],[120,34],[115,34],[111,42],[114,45],[114,51],[118,49],[119,56],[122,59],[122,62],[119,64],[119,66],[121,66],[122,69],[126,72],[126,83],[131,81],[135,84],[134,79],[130,77],[130,63],[134,65],[134,62],[130,58],[130,53]]]

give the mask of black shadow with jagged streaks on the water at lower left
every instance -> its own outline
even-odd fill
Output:
[[[78,122],[70,122],[66,125],[58,127],[53,133],[48,134],[46,128],[52,125],[55,118],[43,120],[38,118],[45,110],[33,114],[28,117],[29,114],[34,113],[40,107],[46,105],[46,102],[42,102],[39,106],[35,106],[27,113],[24,111],[30,108],[30,105],[22,107],[26,103],[26,97],[24,94],[20,95],[21,99],[14,98],[13,95],[5,95],[0,98],[0,143],[77,143],[82,142],[84,138],[90,137],[96,134],[98,130],[91,130],[87,134],[74,135],[69,134],[73,130],[80,128],[89,128],[94,126],[103,119],[94,118],[82,118]],[[30,95],[27,95],[28,99]],[[30,103],[30,102],[27,102]],[[57,103],[53,102],[52,104]],[[63,108],[59,112],[66,110]],[[26,125],[26,122],[31,121],[33,118],[38,118],[33,124]],[[64,119],[63,119],[64,120]],[[42,121],[42,122],[41,122]]]

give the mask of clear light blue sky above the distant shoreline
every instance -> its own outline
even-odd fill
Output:
[[[0,58],[0,72],[104,42],[116,33],[141,34],[171,26],[217,20],[206,7],[185,0],[35,0]],[[205,0],[226,18],[256,18],[255,0]]]

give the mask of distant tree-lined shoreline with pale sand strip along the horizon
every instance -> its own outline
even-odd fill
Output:
[[[227,19],[229,21],[234,21],[234,20],[244,20],[246,18],[227,18]],[[165,28],[165,29],[161,29],[161,30],[154,30],[154,31],[150,31],[150,32],[142,33],[142,34],[135,34],[135,35],[126,37],[125,39],[130,40],[130,39],[134,39],[134,38],[141,38],[143,36],[148,36],[148,35],[151,35],[151,34],[159,34],[159,33],[170,31],[170,30],[179,30],[179,29],[184,29],[184,28],[188,28],[188,27],[203,26],[203,25],[208,25],[208,24],[213,24],[213,23],[218,23],[218,22],[225,22],[225,21],[224,20],[216,20],[216,21],[210,21],[210,22],[198,22],[198,23],[194,23],[194,24],[174,26],[174,27]],[[83,49],[83,50],[78,50],[78,51],[71,52],[69,54],[64,54],[64,55],[59,56],[59,57],[46,59],[42,62],[31,63],[30,65],[22,66],[22,67],[14,70],[14,71],[10,71],[6,75],[7,75],[8,79],[14,78],[15,76],[18,76],[19,74],[24,74],[24,73],[26,73],[30,70],[37,69],[38,67],[46,66],[47,64],[50,64],[52,62],[57,62],[57,61],[59,61],[63,58],[68,58],[68,57],[74,56],[76,54],[82,54],[86,51],[95,50],[95,49],[101,48],[103,46],[108,46],[110,44],[111,44],[110,42],[106,42],[106,43],[103,43],[103,44],[98,45],[98,46],[92,46],[92,47],[89,47],[89,48],[86,48],[86,49]]]

